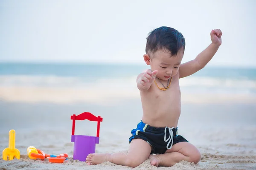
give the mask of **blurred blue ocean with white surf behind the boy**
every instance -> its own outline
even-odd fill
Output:
[[[129,88],[148,65],[0,63],[1,87]],[[180,79],[184,92],[256,94],[256,68],[206,66]]]

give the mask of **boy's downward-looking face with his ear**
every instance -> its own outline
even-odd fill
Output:
[[[177,56],[171,56],[168,50],[158,50],[153,56],[144,55],[146,64],[150,64],[151,70],[158,70],[157,77],[162,80],[168,80],[177,74],[181,60],[183,58],[183,49],[180,49]]]

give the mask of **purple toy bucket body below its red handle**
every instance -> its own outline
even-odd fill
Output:
[[[72,135],[71,142],[74,142],[73,159],[85,161],[90,153],[95,153],[95,147],[99,143],[99,137]]]

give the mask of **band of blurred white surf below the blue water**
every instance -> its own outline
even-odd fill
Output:
[[[22,87],[66,87],[87,88],[90,86],[107,87],[136,87],[136,77],[119,78],[84,78],[84,77],[58,77],[58,76],[27,76],[9,75],[0,76],[0,86]],[[256,90],[256,80],[250,79],[224,79],[215,77],[186,77],[180,79],[181,88],[241,88]]]

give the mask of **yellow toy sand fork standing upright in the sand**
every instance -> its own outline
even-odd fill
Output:
[[[20,159],[20,151],[15,148],[15,130],[9,131],[9,147],[3,150],[3,160],[7,161],[7,156],[9,157],[9,161],[14,157]]]

